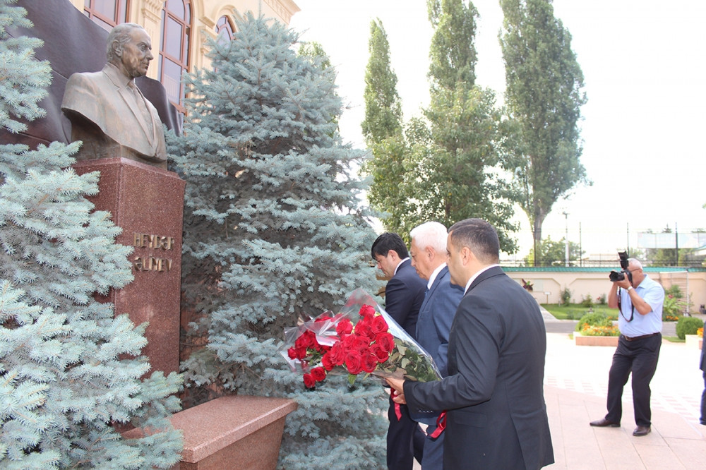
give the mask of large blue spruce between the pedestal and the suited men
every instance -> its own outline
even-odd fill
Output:
[[[335,311],[357,287],[376,290],[365,185],[352,176],[361,152],[337,133],[335,70],[296,44],[292,30],[249,14],[232,42],[210,44],[213,68],[187,79],[184,135],[169,142],[187,182],[182,308],[198,318],[182,368],[201,392],[190,392],[195,402],[296,400],[282,468],[378,469],[379,382],[330,376],[309,391],[277,352],[298,318]]]

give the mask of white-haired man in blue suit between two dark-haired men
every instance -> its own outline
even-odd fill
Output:
[[[412,244],[409,255],[412,267],[422,279],[426,279],[426,296],[419,308],[417,318],[417,342],[434,359],[441,376],[448,374],[448,333],[453,316],[463,296],[460,286],[451,284],[446,266],[446,227],[439,222],[425,222],[409,232]],[[421,468],[443,469],[444,433],[434,437],[437,429],[438,411],[410,410],[412,418],[424,423],[426,439]]]

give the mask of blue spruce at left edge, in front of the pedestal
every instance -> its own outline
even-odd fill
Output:
[[[1,135],[42,116],[50,80],[34,57],[41,41],[7,33],[31,27],[13,3],[0,0]],[[0,144],[0,466],[169,468],[181,454],[167,419],[181,377],[141,380],[144,326],[94,299],[131,281],[130,248],[114,242],[107,212],[91,212],[98,174],[69,168],[76,150]],[[123,439],[112,423],[148,435]]]

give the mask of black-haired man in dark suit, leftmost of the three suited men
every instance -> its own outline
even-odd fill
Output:
[[[397,234],[384,233],[373,242],[371,256],[378,263],[378,269],[390,279],[385,286],[385,311],[414,338],[426,283],[412,267],[405,241]],[[397,411],[401,415],[399,419]],[[396,409],[392,399],[388,418],[388,469],[411,470],[414,458],[421,462],[424,433],[417,421],[410,418],[407,406]]]

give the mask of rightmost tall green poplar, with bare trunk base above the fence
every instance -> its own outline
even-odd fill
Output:
[[[578,128],[586,102],[583,73],[571,50],[571,35],[554,18],[551,1],[500,3],[505,103],[515,121],[513,158],[505,168],[513,171],[520,191],[517,203],[530,219],[537,246],[552,205],[587,181]]]

